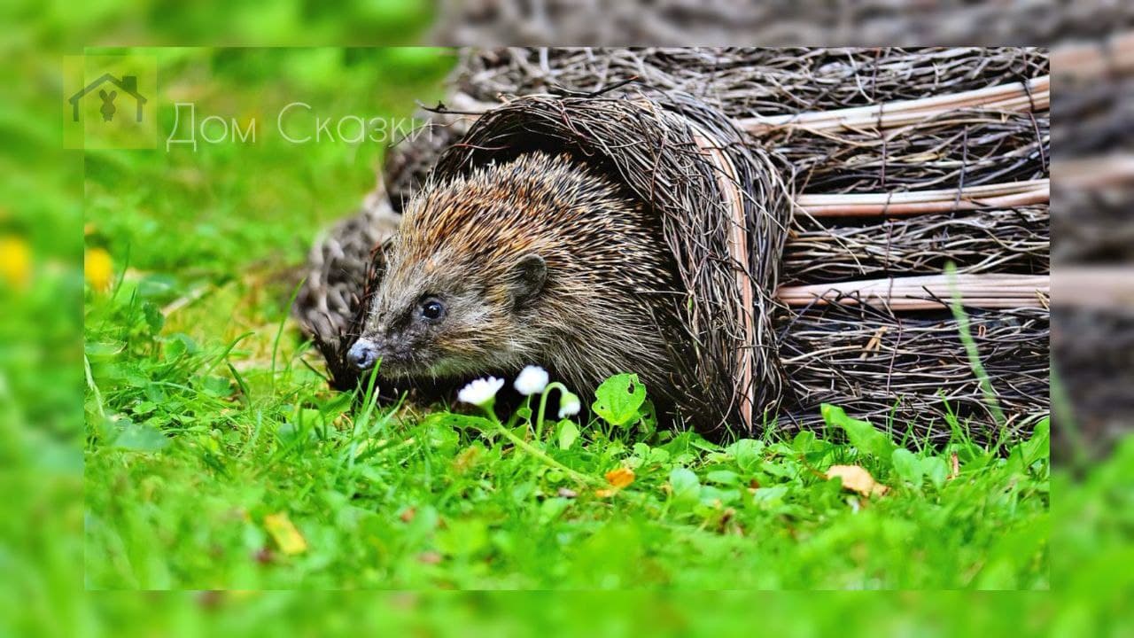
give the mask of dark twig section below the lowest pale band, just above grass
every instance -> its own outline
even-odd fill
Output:
[[[940,305],[938,307],[940,308]],[[781,317],[780,361],[796,405],[832,403],[875,426],[947,440],[953,427],[975,438],[1010,438],[1042,413],[1048,394],[1048,313],[970,311],[968,333],[995,388],[1008,431],[973,375],[962,333],[947,311],[895,314],[868,304],[830,304]],[[821,363],[818,366],[816,363]],[[815,410],[788,410],[781,423],[814,427]]]

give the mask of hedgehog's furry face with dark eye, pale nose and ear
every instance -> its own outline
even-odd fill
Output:
[[[380,361],[388,377],[445,378],[523,360],[530,339],[517,338],[519,319],[543,289],[543,259],[525,255],[491,280],[471,280],[471,271],[491,269],[455,268],[443,252],[391,254],[349,362],[365,371]]]

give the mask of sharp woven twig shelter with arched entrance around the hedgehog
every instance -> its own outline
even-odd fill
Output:
[[[472,51],[428,116],[447,143],[464,136],[447,150],[407,140],[386,182],[400,200],[430,166],[447,177],[556,149],[628,185],[680,265],[689,338],[675,385],[704,431],[811,426],[828,402],[930,439],[955,417],[997,437],[1048,406],[1046,73],[1026,49]],[[349,268],[327,259],[346,240],[318,244],[310,268]],[[374,257],[357,253],[354,271]],[[303,291],[306,325],[327,294]],[[331,296],[357,313],[365,294]],[[325,312],[313,331],[349,386],[357,317]]]

